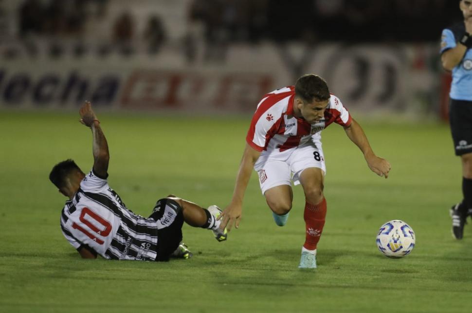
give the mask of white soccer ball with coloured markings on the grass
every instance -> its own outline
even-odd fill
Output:
[[[389,258],[404,257],[415,247],[415,232],[398,219],[386,222],[377,235],[377,247]]]

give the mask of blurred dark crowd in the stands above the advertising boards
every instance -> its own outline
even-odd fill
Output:
[[[172,38],[173,24],[155,9],[166,1],[170,0],[0,0],[1,44],[21,42],[3,49],[3,56],[13,58],[18,50],[34,56],[38,42],[44,41],[52,57],[60,56],[68,41],[73,41],[76,56],[90,52],[91,42],[94,53],[104,56],[112,51],[155,54],[166,43],[177,43],[190,60],[199,40],[219,50],[266,40],[431,42],[460,18],[455,0],[180,0],[183,20],[176,23],[185,24],[185,32]],[[12,2],[17,2],[14,16],[5,9]],[[136,15],[135,6],[148,9],[140,8],[142,13]],[[110,7],[122,12],[111,15]],[[138,29],[138,23],[144,27]]]

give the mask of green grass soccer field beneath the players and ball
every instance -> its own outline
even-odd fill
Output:
[[[109,183],[135,213],[150,214],[169,193],[204,207],[228,204],[250,117],[99,117]],[[472,227],[462,241],[451,236],[461,170],[447,125],[362,124],[391,176],[370,172],[341,127],[323,132],[328,213],[311,271],[297,268],[301,188],[280,228],[255,174],[228,241],[184,226],[191,260],[81,260],[60,231],[65,198],[48,175],[66,158],[90,170],[90,131],[75,113],[0,112],[0,312],[471,312]],[[391,219],[417,235],[403,259],[382,256],[375,244]]]

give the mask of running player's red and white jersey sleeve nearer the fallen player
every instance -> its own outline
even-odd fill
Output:
[[[279,117],[277,113],[270,111],[264,111],[261,107],[257,109],[246,136],[246,142],[259,152],[264,150],[267,140],[273,136],[272,128]]]

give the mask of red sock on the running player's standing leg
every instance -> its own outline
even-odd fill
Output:
[[[309,250],[316,249],[318,241],[320,241],[321,233],[323,232],[323,226],[325,225],[326,216],[326,199],[318,204],[305,203],[305,213],[303,218],[305,219],[306,237],[305,244],[303,247]]]

